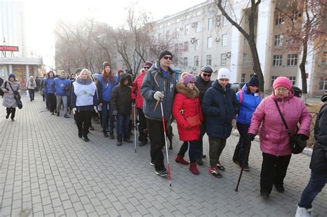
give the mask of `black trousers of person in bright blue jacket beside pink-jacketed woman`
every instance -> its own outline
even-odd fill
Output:
[[[248,138],[248,127],[245,123],[236,123],[237,130],[239,131],[239,142],[237,143],[232,159],[238,161],[240,166],[243,166],[244,159],[246,158],[246,151],[250,145],[250,138]],[[250,150],[249,150],[250,151]],[[248,159],[245,165],[248,165]]]

